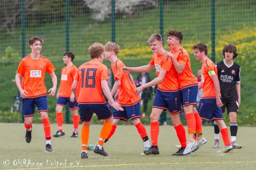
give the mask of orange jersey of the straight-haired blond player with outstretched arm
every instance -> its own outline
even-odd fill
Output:
[[[149,64],[155,65],[157,76],[159,76],[161,70],[167,71],[163,79],[163,82],[158,84],[158,87],[157,87],[158,90],[164,91],[164,92],[173,92],[173,91],[180,90],[175,67],[172,63],[171,57],[169,56],[163,57],[163,54],[161,55],[154,54]]]

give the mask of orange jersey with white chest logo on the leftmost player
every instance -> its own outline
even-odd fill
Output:
[[[46,57],[39,56],[34,60],[30,55],[21,59],[17,73],[22,75],[21,88],[28,92],[28,98],[47,96],[44,85],[45,72],[52,74],[55,71],[52,62]]]

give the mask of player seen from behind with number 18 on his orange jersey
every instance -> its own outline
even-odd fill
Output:
[[[88,48],[88,51],[91,60],[78,68],[72,84],[72,91],[79,104],[80,119],[83,123],[81,129],[81,159],[88,158],[87,144],[93,113],[96,113],[98,120],[105,120],[94,153],[108,156],[103,149],[103,144],[112,129],[113,116],[108,103],[102,95],[102,91],[113,108],[123,111],[123,108],[113,100],[108,88],[108,68],[102,64],[104,46],[100,43],[94,43]]]

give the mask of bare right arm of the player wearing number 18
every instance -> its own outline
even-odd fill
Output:
[[[117,111],[123,111],[124,109],[114,101],[113,97],[111,96],[110,89],[108,87],[108,81],[105,79],[101,80],[101,85],[102,85],[102,91],[105,94],[105,96],[108,99],[108,104],[111,105],[114,109]]]

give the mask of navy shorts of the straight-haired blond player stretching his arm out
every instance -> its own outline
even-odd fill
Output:
[[[181,98],[180,91],[163,92],[157,89],[153,108],[165,109],[169,111],[170,114],[180,113]]]

